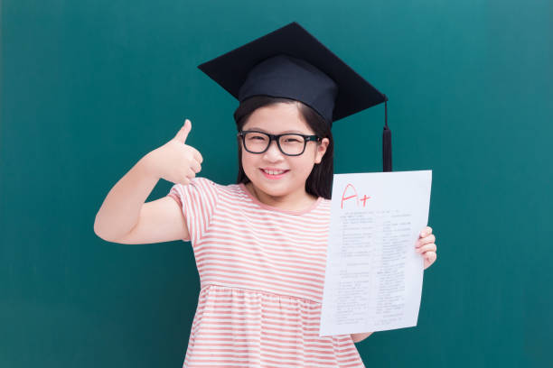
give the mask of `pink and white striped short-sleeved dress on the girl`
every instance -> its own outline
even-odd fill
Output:
[[[350,335],[318,336],[330,200],[289,211],[201,177],[167,196],[200,275],[183,367],[364,367]]]

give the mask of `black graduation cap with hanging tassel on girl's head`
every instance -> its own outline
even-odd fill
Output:
[[[289,23],[198,68],[239,102],[252,96],[295,99],[312,107],[331,127],[337,120],[383,102],[383,171],[391,171],[388,97],[298,23]]]

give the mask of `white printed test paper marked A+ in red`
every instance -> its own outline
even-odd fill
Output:
[[[335,174],[319,336],[417,326],[432,170]]]

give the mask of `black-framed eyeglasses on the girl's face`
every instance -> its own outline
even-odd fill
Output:
[[[305,135],[298,133],[269,134],[258,131],[241,131],[244,148],[250,153],[266,152],[271,141],[277,141],[278,149],[286,156],[299,156],[304,153],[305,146],[309,141],[319,142],[321,138],[317,135]]]

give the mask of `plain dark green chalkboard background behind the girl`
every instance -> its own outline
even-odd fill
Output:
[[[108,243],[94,219],[185,118],[198,175],[235,182],[238,103],[196,67],[293,21],[389,97],[393,169],[433,170],[417,327],[364,363],[553,365],[550,1],[4,0],[1,367],[182,366],[190,243]],[[333,126],[336,173],[381,170],[383,115]]]

